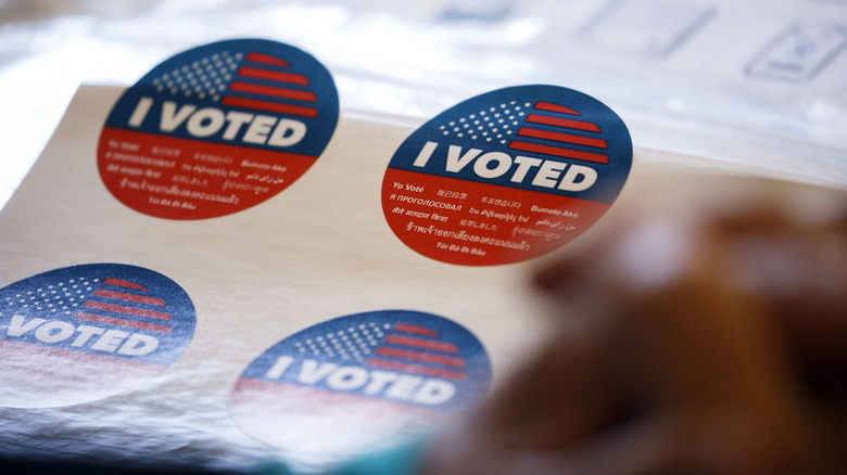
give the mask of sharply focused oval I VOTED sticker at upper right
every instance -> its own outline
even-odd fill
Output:
[[[520,86],[469,99],[394,153],[382,208],[394,234],[443,262],[546,254],[594,224],[632,164],[623,121],[590,95]]]

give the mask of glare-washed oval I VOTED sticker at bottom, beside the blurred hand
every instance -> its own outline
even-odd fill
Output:
[[[241,375],[230,411],[293,459],[332,459],[419,437],[477,402],[490,381],[485,350],[457,323],[374,311],[274,345]]]

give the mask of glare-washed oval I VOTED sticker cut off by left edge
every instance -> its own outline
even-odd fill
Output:
[[[182,355],[194,320],[179,285],[135,266],[65,267],[0,288],[0,406],[124,393]]]

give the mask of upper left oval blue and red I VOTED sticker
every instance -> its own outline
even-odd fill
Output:
[[[100,177],[146,215],[238,213],[305,174],[338,115],[332,78],[309,54],[260,39],[206,44],[160,64],[121,97],[100,134]]]

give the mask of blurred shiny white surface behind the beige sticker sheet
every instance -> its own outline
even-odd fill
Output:
[[[315,55],[342,114],[422,123],[554,84],[610,105],[636,147],[847,185],[845,0],[0,0],[0,207],[81,84],[237,37]]]

